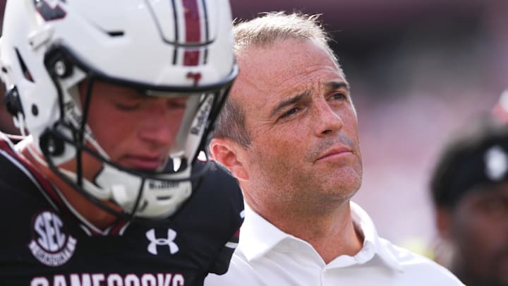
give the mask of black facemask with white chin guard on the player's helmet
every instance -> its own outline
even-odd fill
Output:
[[[204,150],[207,136],[213,129],[234,74],[228,81],[213,86],[195,88],[147,86],[110,78],[87,68],[65,47],[56,46],[45,59],[48,73],[56,86],[61,117],[40,137],[39,146],[44,161],[63,179],[99,207],[119,217],[166,218],[178,210],[191,196],[192,181],[205,174],[207,167],[191,174],[191,166]],[[78,83],[85,81],[86,95],[80,102]],[[167,164],[155,171],[127,169],[111,162],[87,126],[92,90],[96,81],[127,86],[143,92],[147,97],[188,97],[186,110],[176,140],[167,155]],[[90,155],[102,163],[93,181],[83,176],[83,155]],[[75,172],[59,167],[75,159]],[[120,213],[104,201],[120,205]]]

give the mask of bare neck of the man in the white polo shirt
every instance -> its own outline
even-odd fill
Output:
[[[363,246],[363,237],[353,224],[349,200],[334,208],[258,204],[248,196],[246,202],[279,230],[312,245],[325,263],[341,255],[354,256]]]

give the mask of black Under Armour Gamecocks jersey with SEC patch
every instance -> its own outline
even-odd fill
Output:
[[[171,220],[87,226],[0,133],[0,285],[202,285],[225,273],[243,200],[217,165]]]

